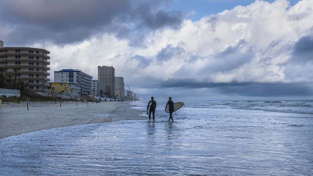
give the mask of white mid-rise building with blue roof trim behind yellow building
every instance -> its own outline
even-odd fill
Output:
[[[72,87],[79,88],[80,94],[92,95],[92,76],[77,69],[62,69],[54,72],[55,82],[70,83]],[[77,85],[76,85],[77,84]]]

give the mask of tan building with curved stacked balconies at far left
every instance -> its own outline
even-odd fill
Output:
[[[16,75],[17,81],[23,81],[36,92],[48,92],[48,70],[50,68],[49,51],[30,47],[4,47],[0,41],[0,69],[8,75]]]

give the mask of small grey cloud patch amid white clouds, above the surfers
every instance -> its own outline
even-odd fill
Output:
[[[159,61],[169,60],[173,56],[180,55],[184,51],[185,50],[180,46],[173,47],[172,45],[167,45],[165,48],[158,52],[157,59]]]

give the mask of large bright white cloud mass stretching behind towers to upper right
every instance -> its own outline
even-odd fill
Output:
[[[311,0],[292,7],[286,0],[256,1],[196,22],[184,20],[178,30],[151,32],[141,45],[130,46],[127,40],[104,34],[82,43],[43,47],[51,51],[52,71],[77,68],[96,78],[98,65],[113,65],[116,75],[124,76],[126,83],[145,94],[149,81],[157,85],[167,79],[312,82],[308,68],[313,65],[303,66],[301,73],[302,66],[298,65],[295,75],[300,75],[299,79],[284,72],[292,68],[288,62],[294,43],[313,34],[312,7]],[[184,52],[159,60],[158,52],[169,45]],[[51,77],[53,80],[53,74]]]

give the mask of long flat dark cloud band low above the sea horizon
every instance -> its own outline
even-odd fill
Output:
[[[256,82],[230,82],[212,83],[194,79],[171,79],[161,82],[163,88],[200,89],[211,88],[211,91],[220,94],[236,94],[240,96],[311,96],[312,83],[256,83]]]

